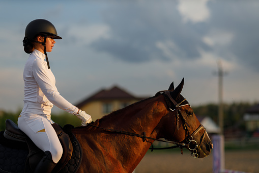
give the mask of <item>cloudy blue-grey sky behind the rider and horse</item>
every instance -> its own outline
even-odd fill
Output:
[[[63,37],[48,58],[72,104],[114,85],[153,96],[182,78],[191,105],[218,103],[219,64],[224,102],[258,102],[258,8],[255,0],[0,0],[0,110],[23,107],[22,40],[39,18]]]

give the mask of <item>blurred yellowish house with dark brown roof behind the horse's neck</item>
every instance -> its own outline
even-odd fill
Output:
[[[76,106],[92,116],[92,120],[101,118],[113,111],[125,108],[147,97],[137,97],[126,90],[113,86],[110,89],[101,89],[95,94],[76,104]]]

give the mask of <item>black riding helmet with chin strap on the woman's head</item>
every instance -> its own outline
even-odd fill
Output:
[[[35,40],[37,35],[44,35],[44,42],[39,42]],[[57,35],[56,29],[51,22],[45,19],[36,19],[27,24],[25,29],[25,37],[23,39],[23,46],[28,40],[41,43],[44,46],[44,54],[46,55],[46,61],[49,67],[48,56],[46,52],[46,38],[47,36],[54,36],[54,39],[62,39],[62,37]]]

